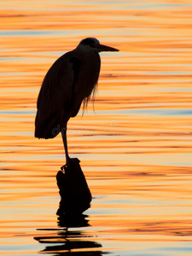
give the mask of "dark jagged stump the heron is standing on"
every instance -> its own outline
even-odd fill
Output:
[[[59,171],[56,175],[61,195],[58,215],[79,214],[90,207],[92,197],[79,162],[77,158],[71,159],[69,168],[64,166],[65,172]]]

